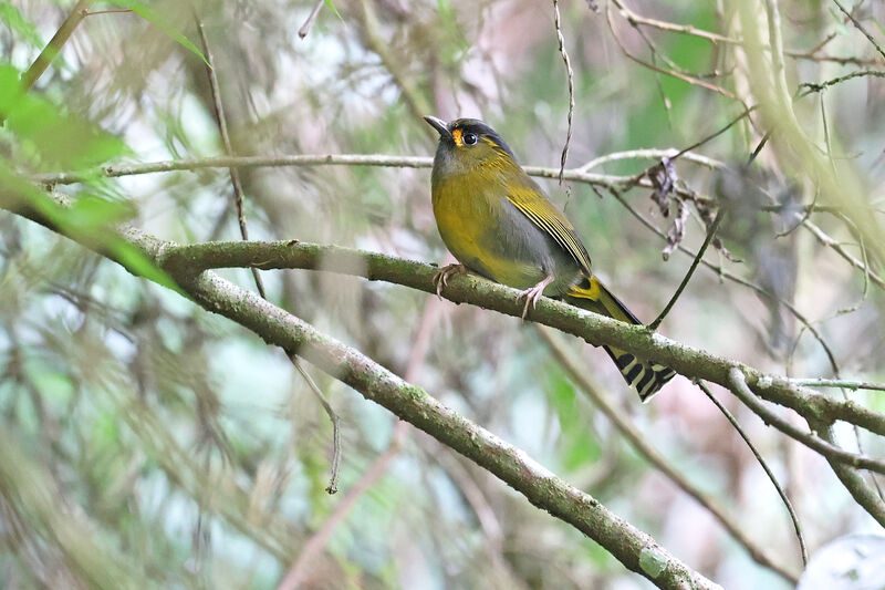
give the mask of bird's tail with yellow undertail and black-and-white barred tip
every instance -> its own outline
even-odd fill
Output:
[[[591,279],[583,279],[569,290],[565,300],[571,304],[582,309],[586,309],[615,320],[642,325],[636,315],[634,315],[615,296],[608,291],[595,277]],[[603,345],[605,352],[621,370],[624,381],[631,387],[636,389],[639,393],[639,398],[647,402],[654,394],[664,386],[676,372],[668,366],[658,364],[654,361],[644,361],[637,359],[632,353],[615,349],[613,346]]]

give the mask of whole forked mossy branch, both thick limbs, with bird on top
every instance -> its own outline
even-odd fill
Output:
[[[41,213],[40,207],[21,207],[20,200],[6,198],[0,198],[0,207],[67,234],[72,239],[114,259],[113,251],[103,248],[101,241],[66,232],[55,217]],[[298,353],[367,400],[383,405],[436,437],[512,486],[539,508],[594,539],[625,567],[645,576],[659,588],[715,588],[648,535],[611,513],[592,496],[544,469],[523,451],[452,412],[423,389],[405,382],[360,351],[319,332],[258,294],[208,270],[221,267],[340,269],[369,280],[385,280],[433,293],[436,267],[296,240],[179,246],[134,227],[121,227],[116,232],[108,231],[108,235],[140,250],[177,282],[180,292],[204,309],[233,320],[270,344],[281,346],[289,353]],[[522,313],[516,290],[473,276],[455,277],[442,294],[456,303],[471,303],[514,317]],[[792,385],[783,377],[766,375],[741,363],[679,344],[643,327],[627,325],[546,298],[532,310],[529,319],[596,345],[613,344],[653,358],[691,377],[728,385],[737,371],[754,393],[792,407],[815,424],[847,420],[878,434],[885,432],[885,416],[857,404],[826,398]],[[853,467],[864,467],[885,473],[885,462],[848,453],[811,433],[801,434],[815,442],[815,448],[834,464],[834,469],[839,466],[853,472]]]

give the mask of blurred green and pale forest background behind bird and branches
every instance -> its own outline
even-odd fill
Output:
[[[415,105],[430,104],[442,117],[485,118],[524,164],[558,163],[569,97],[549,3],[335,2],[336,10],[321,9],[299,39],[314,4],[208,1],[196,8],[238,154],[429,155],[434,139],[419,118],[428,113],[415,112]],[[570,166],[617,151],[684,147],[742,111],[721,94],[625,58],[605,7],[597,14],[586,2],[561,4],[576,76]],[[827,54],[871,54],[866,40],[827,2],[780,4],[788,49],[806,52],[832,35],[822,50]],[[0,2],[0,113],[7,116],[0,127],[0,190],[39,204],[43,196],[29,182],[35,173],[223,152],[202,51],[192,45],[198,35],[190,9],[170,1],[149,6],[149,14],[139,9],[86,18],[24,94],[19,75],[71,3]],[[629,6],[644,15],[737,34],[733,14],[721,2]],[[885,17],[875,2],[862,11],[871,25]],[[142,18],[148,15],[156,18]],[[693,76],[748,92],[741,64],[726,44],[643,29],[654,41],[652,54],[616,12],[612,21],[632,54],[658,66],[666,56]],[[787,65],[792,84],[856,68],[803,59]],[[820,108],[815,101],[824,102],[834,157],[862,168],[879,200],[883,95],[885,82],[858,79],[796,105],[812,111]],[[808,132],[822,141],[820,125]],[[745,121],[701,152],[743,161],[760,135]],[[766,151],[760,161],[778,164]],[[637,174],[648,165],[615,161],[595,172]],[[711,192],[709,170],[683,162],[678,169],[687,186]],[[426,169],[256,168],[242,176],[252,239],[296,238],[444,260]],[[675,255],[663,262],[663,242],[608,195],[600,198],[585,185],[545,187],[584,237],[595,270],[650,320],[690,260]],[[73,203],[63,215],[53,209],[56,221],[96,240],[123,220],[180,242],[239,239],[227,170],[116,180],[96,175],[55,190]],[[813,192],[804,185],[799,190],[798,201],[810,203]],[[666,230],[670,220],[654,214],[642,190],[628,195]],[[837,216],[814,219],[861,256],[856,237]],[[691,246],[704,238],[695,221],[686,238]],[[775,239],[772,234],[784,229],[777,221],[756,211],[735,219],[722,236],[746,261],[721,263],[801,309],[845,373],[883,379],[881,289],[871,286],[867,293],[863,273],[808,232]],[[771,271],[772,260],[789,271]],[[128,262],[137,272],[150,271]],[[223,275],[253,286],[247,271]],[[408,374],[725,587],[787,587],[644,463],[521,322],[337,275],[262,277],[274,303]],[[662,330],[772,371],[789,366],[795,374],[830,375],[820,344],[768,304],[700,271]],[[601,350],[571,345],[656,448],[725,501],[750,537],[798,565],[773,488],[690,383],[677,380],[641,407]],[[424,352],[415,358],[416,350]],[[314,376],[343,422],[336,496],[324,491],[331,425],[280,351],[43,227],[0,214],[3,586],[274,588],[339,510],[346,510],[344,517],[303,566],[302,588],[649,586],[487,473],[410,427],[397,435],[386,411],[325,375]],[[875,394],[857,398],[883,408]],[[812,549],[872,529],[820,457],[733,410],[788,483]],[[882,452],[881,442],[864,443],[871,454]],[[386,468],[361,490],[385,453]]]

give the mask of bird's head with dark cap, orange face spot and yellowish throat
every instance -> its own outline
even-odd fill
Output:
[[[507,143],[478,118],[456,118],[450,123],[435,116],[424,120],[439,133],[434,178],[504,172],[518,167],[517,158]]]

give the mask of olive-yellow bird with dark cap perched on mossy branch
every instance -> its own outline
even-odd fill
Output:
[[[458,260],[434,277],[472,271],[520,289],[522,318],[541,298],[635,325],[643,323],[593,275],[574,227],[517,162],[500,134],[478,118],[424,120],[439,133],[430,193],[439,235]],[[627,384],[647,402],[676,374],[653,360],[603,345]]]

